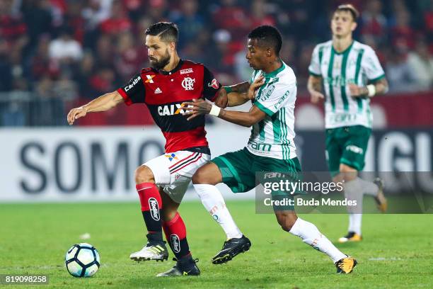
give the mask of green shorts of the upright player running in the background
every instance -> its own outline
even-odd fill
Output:
[[[332,176],[340,172],[340,164],[357,171],[364,169],[364,159],[371,128],[353,125],[326,130],[326,161]]]

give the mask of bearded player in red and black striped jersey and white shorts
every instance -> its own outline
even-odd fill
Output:
[[[183,103],[193,98],[206,98],[226,107],[227,98],[226,94],[220,94],[221,85],[203,64],[180,59],[176,51],[178,28],[175,24],[156,23],[145,34],[151,67],[142,69],[117,91],[72,109],[67,118],[72,124],[86,113],[108,111],[122,102],[128,106],[146,103],[166,137],[166,154],[151,159],[135,171],[148,242],[130,258],[136,261],[168,259],[163,228],[178,262],[158,276],[199,275],[178,207],[192,175],[209,162],[210,152],[204,116],[187,121]]]

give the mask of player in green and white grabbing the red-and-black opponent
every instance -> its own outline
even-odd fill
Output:
[[[255,173],[289,172],[298,174],[301,165],[294,145],[294,104],[296,77],[293,70],[279,58],[282,37],[272,26],[260,26],[248,34],[246,58],[255,72],[251,84],[229,86],[229,106],[252,100],[249,112],[226,111],[205,101],[185,103],[190,118],[209,113],[231,123],[252,127],[248,145],[237,152],[229,152],[212,159],[192,176],[195,191],[204,207],[224,229],[227,241],[212,263],[226,263],[250,248],[247,239],[236,226],[226,208],[217,183],[226,183],[233,193],[255,188]],[[256,94],[256,95],[255,95]],[[272,192],[272,200],[288,195]],[[293,196],[289,196],[293,199]],[[313,248],[328,254],[337,266],[337,273],[350,273],[357,262],[343,254],[311,222],[296,216],[294,206],[274,207],[277,222],[284,231],[302,239]]]

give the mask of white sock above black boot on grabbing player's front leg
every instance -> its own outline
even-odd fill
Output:
[[[242,237],[242,232],[233,221],[218,188],[207,184],[195,184],[194,188],[200,200],[202,200],[204,208],[226,232],[227,239]]]

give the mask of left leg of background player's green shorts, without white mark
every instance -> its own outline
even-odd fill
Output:
[[[340,171],[340,159],[342,157],[342,145],[344,138],[341,135],[342,128],[332,128],[325,131],[325,157],[331,176],[336,176]]]

